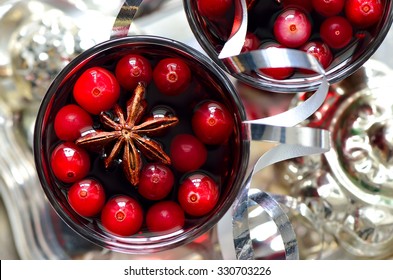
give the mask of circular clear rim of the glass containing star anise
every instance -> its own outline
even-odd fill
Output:
[[[218,205],[217,212],[215,215],[209,214],[207,217],[202,218],[202,224],[197,226],[192,226],[190,230],[183,231],[178,235],[160,235],[162,238],[149,238],[143,237],[120,237],[109,232],[105,231],[97,231],[96,229],[92,229],[88,227],[86,223],[78,223],[78,221],[83,220],[85,218],[82,217],[74,217],[71,213],[67,213],[67,209],[64,209],[64,205],[58,201],[56,194],[53,192],[51,187],[51,182],[47,180],[51,175],[49,174],[49,165],[45,159],[45,152],[43,151],[43,140],[45,138],[45,126],[47,125],[47,121],[49,116],[51,115],[51,106],[54,103],[54,99],[57,95],[57,89],[62,86],[65,80],[69,79],[70,71],[75,69],[75,67],[83,67],[86,63],[93,60],[97,55],[107,51],[108,49],[121,47],[124,45],[134,45],[134,46],[160,46],[166,47],[175,53],[186,54],[187,56],[192,58],[198,65],[203,66],[206,69],[209,69],[210,74],[214,75],[218,78],[219,84],[221,87],[225,88],[225,92],[229,93],[230,96],[226,96],[228,99],[233,102],[236,106],[238,112],[237,115],[237,125],[238,125],[238,137],[241,138],[239,141],[239,163],[236,165],[238,169],[236,169],[236,178],[233,180],[231,184],[231,190],[228,192],[228,197],[222,200],[222,203]],[[82,65],[82,66],[80,66]],[[49,110],[48,110],[49,108]],[[89,50],[83,52],[79,56],[77,56],[74,60],[72,60],[69,64],[67,64],[63,70],[56,76],[56,78],[52,81],[50,87],[45,94],[40,108],[38,110],[37,119],[34,128],[34,161],[36,165],[36,170],[38,173],[38,177],[41,183],[41,187],[44,190],[50,204],[55,209],[55,212],[60,216],[60,218],[74,231],[83,236],[85,239],[100,245],[101,247],[108,248],[114,251],[122,252],[122,253],[132,253],[132,254],[144,254],[144,253],[153,253],[158,251],[163,251],[167,249],[172,249],[183,245],[185,243],[191,242],[198,236],[206,233],[210,230],[218,221],[224,216],[224,214],[230,209],[232,203],[236,200],[238,193],[243,187],[243,181],[246,177],[246,170],[248,168],[248,160],[249,160],[249,135],[245,131],[242,121],[246,119],[245,109],[241,102],[240,97],[237,94],[235,86],[230,81],[229,77],[220,69],[217,65],[215,65],[211,59],[205,56],[203,53],[193,49],[192,47],[181,43],[176,40],[152,36],[152,35],[133,35],[118,39],[111,39],[96,46],[90,48]],[[232,187],[234,186],[234,187]],[[56,187],[56,186],[54,186]],[[76,214],[77,215],[77,214]],[[76,220],[77,221],[76,221]],[[85,219],[86,220],[86,219]]]

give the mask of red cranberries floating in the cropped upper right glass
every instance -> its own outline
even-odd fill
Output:
[[[234,1],[197,1],[198,11],[209,26],[206,32],[213,33],[209,38],[228,38]],[[351,42],[366,37],[365,31],[380,21],[384,9],[384,0],[248,0],[247,4],[249,28],[242,52],[271,47],[300,49],[315,56],[325,69]],[[286,79],[295,69],[260,72]],[[300,73],[310,74],[304,70]]]

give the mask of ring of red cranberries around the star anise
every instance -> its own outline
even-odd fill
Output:
[[[138,84],[146,86],[146,95],[156,94],[157,100],[181,99],[180,96],[192,92],[193,79],[186,61],[177,57],[153,62],[143,54],[132,53],[114,64],[112,69],[101,66],[86,69],[73,85],[70,102],[56,113],[53,128],[57,140],[50,155],[52,173],[66,190],[71,208],[82,217],[99,221],[111,233],[130,236],[138,232],[180,230],[187,217],[202,217],[217,205],[221,186],[216,178],[222,175],[211,174],[212,171],[203,167],[208,147],[225,145],[232,136],[233,116],[222,102],[213,98],[199,100],[194,110],[187,113],[189,116],[184,116],[190,119],[189,133],[176,132],[170,127],[164,130],[164,136],[160,135],[170,143],[165,149],[171,164],[144,158],[139,183],[125,185],[127,192],[114,192],[108,184],[112,173],[104,174],[107,179],[103,183],[95,176],[96,166],[92,163],[96,154],[105,158],[113,143],[98,150],[92,143],[94,149],[85,149],[76,144],[77,139],[105,130],[98,121],[100,114],[111,115],[115,104],[126,107],[124,95],[129,96]],[[156,115],[153,113],[153,118],[177,113],[158,111]],[[182,117],[179,116],[180,122]],[[121,158],[117,164],[123,164]]]

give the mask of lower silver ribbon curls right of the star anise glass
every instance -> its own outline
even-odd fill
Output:
[[[278,127],[263,124],[246,124],[254,141],[275,142],[277,146],[264,153],[252,166],[241,194],[233,208],[218,224],[218,236],[224,259],[255,259],[254,248],[258,240],[250,236],[249,209],[258,205],[269,215],[277,227],[284,245],[285,259],[298,259],[299,252],[295,232],[284,209],[274,196],[250,189],[253,176],[265,167],[302,155],[329,151],[330,137],[327,130],[307,127]],[[231,244],[232,242],[232,244]],[[263,242],[263,241],[262,241]],[[277,258],[277,254],[272,258]]]

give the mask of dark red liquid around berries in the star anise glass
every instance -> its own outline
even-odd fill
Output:
[[[225,201],[228,193],[231,192],[232,185],[234,184],[234,178],[237,176],[236,172],[241,165],[241,132],[239,131],[239,116],[237,115],[238,108],[236,104],[228,98],[228,92],[223,88],[222,81],[217,80],[217,77],[212,75],[211,73],[207,73],[208,69],[201,67],[201,65],[192,57],[187,54],[176,54],[173,51],[168,51],[165,48],[157,49],[154,48],[136,48],[130,50],[127,47],[117,48],[115,51],[106,51],[102,55],[99,55],[84,64],[79,69],[75,70],[74,73],[70,73],[67,76],[67,80],[61,83],[60,88],[56,92],[56,99],[53,100],[51,106],[48,107],[49,114],[48,121],[45,125],[45,130],[43,132],[43,146],[45,153],[45,161],[49,162],[50,154],[53,148],[59,144],[60,140],[57,139],[53,129],[53,120],[56,112],[64,105],[73,103],[75,104],[75,100],[72,96],[72,88],[77,80],[78,76],[82,74],[86,69],[92,66],[101,66],[104,67],[112,73],[114,73],[114,69],[117,61],[128,53],[137,53],[145,58],[147,58],[152,68],[158,63],[159,60],[166,57],[180,57],[184,59],[192,72],[192,81],[188,89],[179,96],[165,96],[160,93],[152,81],[146,88],[145,99],[148,103],[148,109],[146,110],[146,115],[149,115],[154,108],[157,106],[164,106],[170,109],[170,111],[174,112],[175,115],[179,118],[179,123],[177,126],[170,128],[165,135],[160,137],[151,137],[154,140],[158,141],[163,145],[164,151],[170,155],[169,147],[172,139],[181,133],[189,133],[193,134],[191,128],[191,117],[193,113],[193,109],[201,101],[206,99],[215,100],[222,104],[224,104],[231,113],[234,113],[235,118],[235,127],[233,128],[233,133],[229,141],[222,145],[209,146],[207,145],[208,157],[206,163],[198,170],[207,173],[210,175],[220,186],[220,201],[217,205],[217,209],[219,209],[223,202]],[[122,90],[120,100],[118,104],[123,108],[125,108],[126,101],[131,97],[130,92],[125,92]],[[101,128],[101,124],[97,118],[94,116],[94,126],[95,128]],[[110,146],[109,146],[110,150]],[[98,179],[104,186],[107,199],[112,196],[125,194],[131,197],[136,198],[146,211],[149,206],[151,206],[154,202],[149,201],[142,196],[140,196],[137,192],[135,186],[132,186],[123,175],[121,161],[118,160],[112,167],[106,169],[103,163],[103,154],[89,152],[92,167],[87,177],[92,177]],[[143,157],[143,162],[149,162],[145,157]],[[48,166],[50,166],[48,164]],[[175,175],[175,185],[171,193],[168,195],[165,200],[173,200],[177,201],[177,188],[179,187],[182,179],[187,174],[183,174],[181,172],[176,171],[174,168],[171,168]],[[59,180],[55,179],[49,170],[50,180],[53,181],[53,185],[55,187],[52,188],[52,192],[56,196],[56,199],[59,200],[59,203],[65,209],[70,216],[72,216],[73,220],[78,220],[79,223],[84,224],[85,226],[91,227],[93,229],[99,229],[101,226],[99,225],[99,217],[92,219],[85,219],[82,217],[78,217],[76,213],[69,207],[67,203],[67,190],[70,187],[69,184],[64,184]],[[213,210],[218,211],[218,210]],[[211,213],[214,215],[214,213]],[[209,217],[200,217],[194,218],[190,216],[186,216],[186,224],[184,230],[198,225],[199,223],[206,222]],[[145,227],[142,228],[140,234],[142,236],[148,236],[150,233],[147,233]]]

